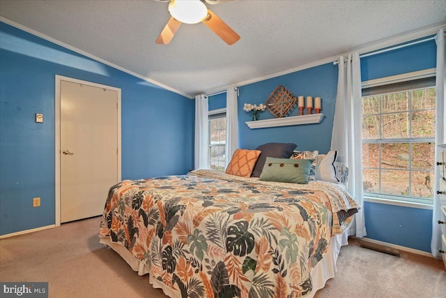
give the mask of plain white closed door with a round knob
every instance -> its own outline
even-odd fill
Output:
[[[60,82],[61,223],[102,214],[118,182],[118,91]]]

